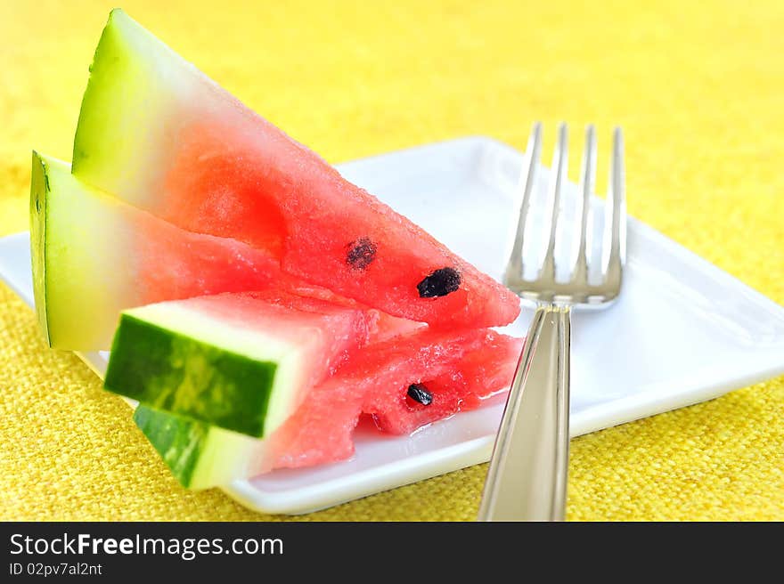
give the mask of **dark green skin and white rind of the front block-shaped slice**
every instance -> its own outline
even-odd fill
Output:
[[[151,304],[121,314],[104,388],[259,438],[279,426],[296,397],[297,348],[269,338],[243,351],[239,331],[229,338],[233,326],[167,310]]]

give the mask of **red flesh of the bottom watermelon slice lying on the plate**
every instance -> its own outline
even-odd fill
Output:
[[[252,469],[314,466],[349,458],[360,415],[380,429],[410,433],[461,410],[471,410],[509,388],[521,341],[490,329],[419,330],[376,345],[309,393],[298,410],[265,442]],[[489,373],[489,375],[487,375]],[[430,406],[409,407],[409,385],[433,393]],[[429,410],[433,408],[433,410]]]

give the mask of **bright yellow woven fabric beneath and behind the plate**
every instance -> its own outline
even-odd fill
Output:
[[[331,161],[530,124],[625,127],[629,211],[784,303],[784,3],[127,1]],[[69,158],[105,2],[0,0],[0,235],[29,150]],[[576,157],[573,157],[576,158]],[[572,160],[572,171],[577,160]],[[572,442],[568,516],[784,520],[784,378]],[[0,286],[0,518],[261,520],[179,488]],[[470,520],[486,465],[301,517]]]

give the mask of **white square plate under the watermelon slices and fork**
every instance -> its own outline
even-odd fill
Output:
[[[339,170],[499,278],[521,164],[517,150],[477,137],[356,160]],[[540,193],[547,174],[540,172]],[[575,191],[570,183],[563,197],[567,226]],[[599,229],[601,214],[594,215]],[[0,278],[33,304],[27,233],[0,239]],[[510,332],[523,336],[530,317],[525,310]],[[105,369],[107,353],[82,357],[99,375]],[[630,219],[623,294],[608,310],[573,316],[571,434],[708,400],[782,373],[784,308]],[[486,461],[501,413],[501,402],[490,403],[404,437],[359,428],[350,460],[275,471],[225,491],[267,513],[337,505]]]

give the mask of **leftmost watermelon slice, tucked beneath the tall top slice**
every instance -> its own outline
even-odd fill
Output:
[[[179,229],[37,152],[30,236],[38,322],[60,349],[108,349],[119,312],[133,306],[301,285],[265,250]]]

